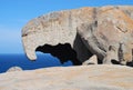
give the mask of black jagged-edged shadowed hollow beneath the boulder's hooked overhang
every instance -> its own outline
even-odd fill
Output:
[[[60,62],[63,64],[66,61],[72,61],[73,66],[82,64],[78,58],[76,52],[71,48],[70,43],[59,43],[57,46],[44,44],[38,47],[35,51],[41,51],[43,53],[51,53],[53,57],[57,57]]]

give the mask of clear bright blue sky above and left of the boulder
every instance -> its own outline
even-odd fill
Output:
[[[0,0],[0,53],[23,53],[21,29],[41,14],[109,4],[133,6],[133,0]]]

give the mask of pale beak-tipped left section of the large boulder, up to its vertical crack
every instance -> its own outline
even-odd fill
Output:
[[[69,43],[76,52],[76,56],[72,57],[78,57],[81,62],[89,59],[90,53],[81,41],[79,34],[76,34],[76,28],[81,23],[91,23],[93,21],[93,10],[94,8],[81,8],[52,12],[28,22],[22,29],[22,42],[28,58],[30,60],[35,60],[35,50],[62,54],[60,53],[62,49],[61,46]],[[55,48],[59,47],[61,49],[57,50],[57,52],[55,50],[51,51],[51,49],[43,49],[49,46]],[[63,51],[70,53],[66,50]]]

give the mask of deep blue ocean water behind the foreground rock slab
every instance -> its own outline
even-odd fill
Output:
[[[60,63],[60,60],[49,53],[37,53],[38,59],[30,61],[25,54],[0,54],[0,73],[6,72],[11,67],[20,67],[23,70],[33,70],[48,67],[69,67],[71,61]]]

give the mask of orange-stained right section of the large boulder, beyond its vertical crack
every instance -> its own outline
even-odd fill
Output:
[[[78,32],[84,44],[101,60],[104,59],[105,56],[110,56],[108,54],[110,46],[116,49],[114,56],[110,56],[110,58],[119,59],[120,43],[123,43],[124,60],[132,60],[133,17],[129,16],[123,8],[124,7],[99,8],[96,10],[98,16],[95,22],[92,24],[83,23],[78,28]],[[133,14],[133,8],[130,12]]]

